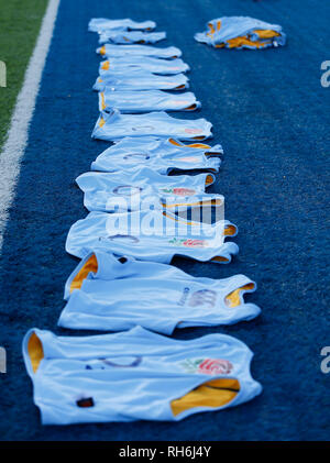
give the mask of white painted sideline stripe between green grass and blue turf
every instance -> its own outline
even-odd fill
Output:
[[[0,154],[0,253],[61,0],[50,0]],[[37,166],[36,166],[37,168]]]

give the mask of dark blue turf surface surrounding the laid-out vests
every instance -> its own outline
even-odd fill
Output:
[[[280,49],[216,51],[193,35],[209,19],[249,14],[279,23]],[[320,85],[329,59],[330,3],[318,0],[63,0],[11,209],[1,260],[0,345],[9,371],[0,375],[2,440],[311,440],[329,439],[330,375],[320,349],[330,344],[326,218],[330,88]],[[91,16],[153,19],[191,66],[200,115],[226,150],[212,191],[227,199],[239,225],[241,252],[228,266],[176,261],[194,275],[244,273],[258,283],[250,300],[262,316],[210,332],[238,337],[255,352],[255,400],[178,423],[41,427],[21,356],[31,327],[56,329],[64,283],[75,267],[65,253],[69,227],[86,214],[74,179],[106,144],[90,140],[98,115],[91,91],[99,58]],[[165,45],[165,42],[164,42]],[[195,118],[199,114],[178,114]]]

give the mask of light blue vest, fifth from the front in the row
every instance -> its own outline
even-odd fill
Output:
[[[213,147],[204,143],[185,145],[174,139],[127,136],[103,151],[91,163],[91,170],[123,172],[148,167],[164,175],[174,169],[218,172],[221,161],[211,156],[222,153],[221,145]]]

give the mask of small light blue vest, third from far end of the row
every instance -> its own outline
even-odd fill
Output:
[[[157,48],[150,45],[111,45],[108,43],[97,48],[97,53],[107,57],[152,56],[155,58],[179,58],[182,56],[182,51],[175,46]]]

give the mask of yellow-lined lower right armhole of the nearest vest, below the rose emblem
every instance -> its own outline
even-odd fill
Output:
[[[241,390],[235,378],[208,379],[182,397],[170,401],[174,417],[191,415],[198,408],[218,409],[228,406]],[[198,410],[196,410],[198,411]]]

